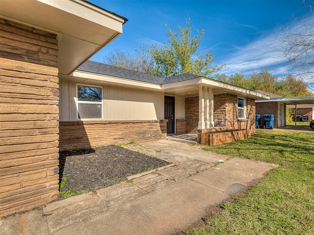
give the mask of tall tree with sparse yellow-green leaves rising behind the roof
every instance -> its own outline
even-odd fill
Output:
[[[211,67],[214,62],[211,50],[198,51],[205,30],[197,30],[197,34],[192,36],[193,25],[189,17],[185,19],[185,27],[178,25],[179,34],[169,26],[166,27],[168,43],[164,43],[162,47],[155,44],[148,48],[155,63],[154,74],[162,77],[182,73],[208,76],[225,67],[224,64]]]

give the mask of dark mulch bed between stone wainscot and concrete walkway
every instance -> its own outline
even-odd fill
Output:
[[[130,175],[169,164],[116,145],[59,154],[60,182],[62,177],[67,177],[62,190],[72,192],[105,188],[125,181]]]

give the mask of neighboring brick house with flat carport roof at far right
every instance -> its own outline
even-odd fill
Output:
[[[274,115],[274,128],[285,127],[287,124],[287,105],[292,105],[295,107],[298,104],[314,104],[314,96],[285,98],[276,94],[270,94],[263,91],[257,92],[268,95],[270,97],[269,100],[255,100],[256,114],[261,115],[261,128],[265,125],[263,118],[263,115],[265,114]]]

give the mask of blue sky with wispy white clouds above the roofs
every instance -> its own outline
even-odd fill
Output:
[[[199,51],[211,49],[220,73],[259,72],[267,69],[278,77],[293,73],[278,48],[280,28],[297,25],[295,18],[314,24],[302,0],[90,0],[128,18],[123,34],[91,58],[103,62],[112,49],[133,50],[167,41],[166,26],[184,26],[190,16],[193,31],[205,29]]]

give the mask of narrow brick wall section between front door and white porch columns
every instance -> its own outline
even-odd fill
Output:
[[[186,133],[197,134],[199,120],[198,96],[185,98]]]

